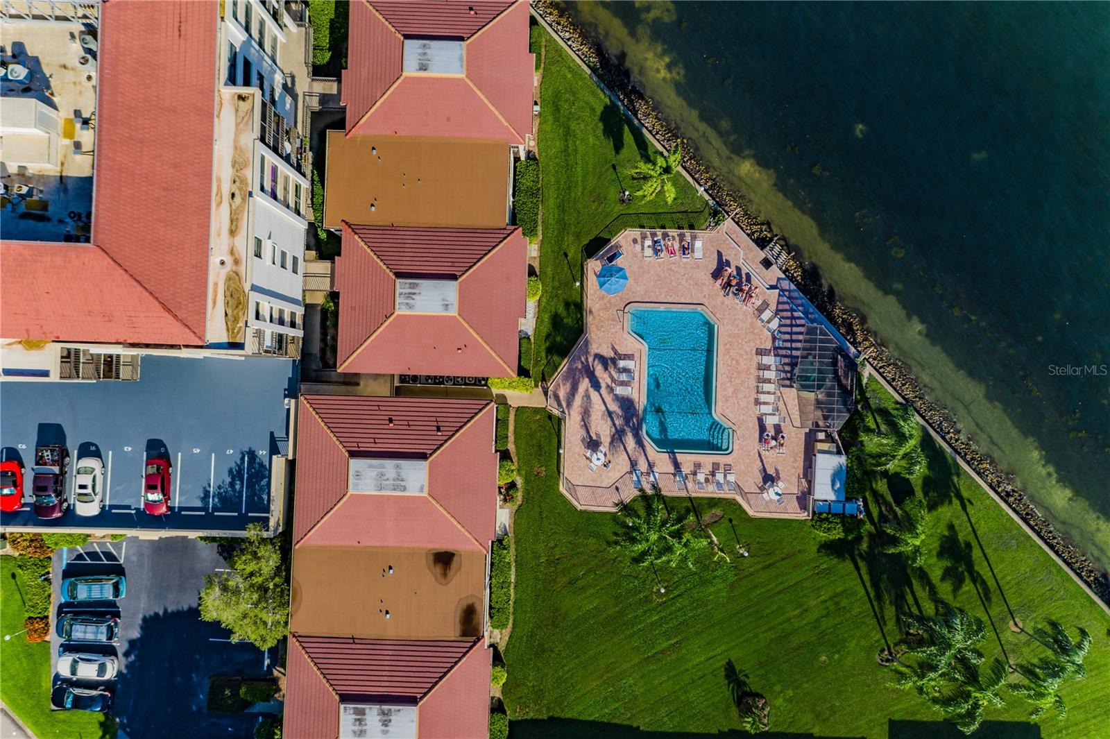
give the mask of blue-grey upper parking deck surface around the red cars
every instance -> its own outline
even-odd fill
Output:
[[[287,433],[295,362],[144,355],[140,371],[135,382],[0,383],[0,456],[26,467],[23,505],[0,525],[241,530],[269,518],[270,460]],[[102,462],[99,515],[79,517],[71,505],[60,518],[36,518],[31,477],[34,449],[44,444],[69,448],[71,504],[78,462]],[[151,457],[172,467],[164,515],[143,509]]]

